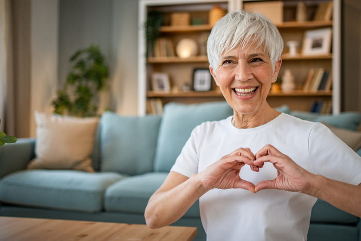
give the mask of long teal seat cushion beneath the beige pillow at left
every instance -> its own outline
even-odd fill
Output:
[[[117,173],[27,170],[0,181],[0,201],[40,208],[99,212],[105,189],[124,178]]]

